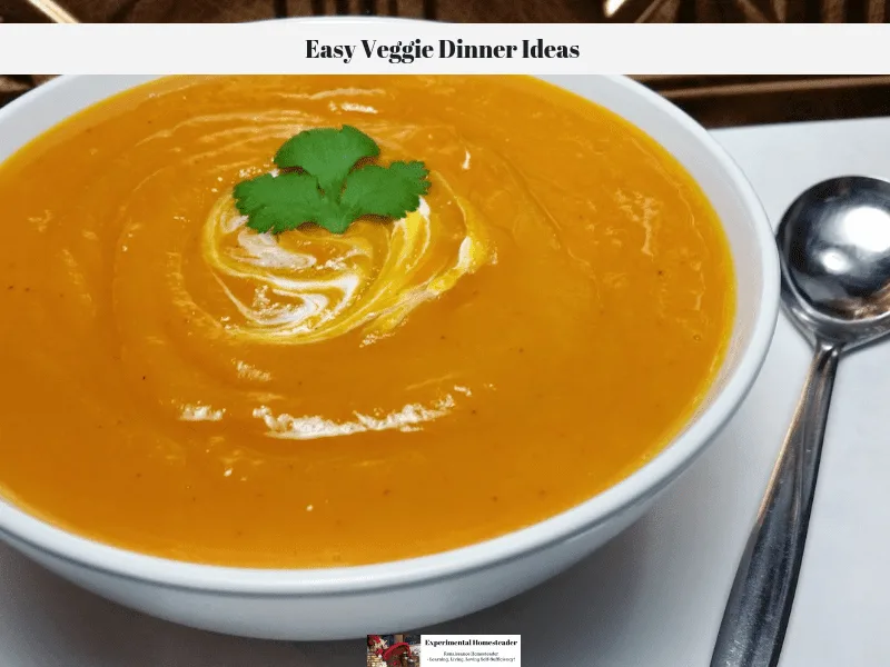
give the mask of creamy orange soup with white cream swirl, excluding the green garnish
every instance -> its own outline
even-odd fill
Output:
[[[353,126],[432,186],[343,235],[236,183]],[[97,540],[379,563],[568,509],[656,455],[722,360],[728,243],[683,168],[525,77],[187,77],[0,166],[0,490]]]

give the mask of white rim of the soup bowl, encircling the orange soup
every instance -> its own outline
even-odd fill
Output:
[[[41,97],[59,88],[76,86],[86,77],[90,74],[60,76],[24,93],[0,110],[0,127],[13,111],[39,103]],[[769,219],[752,186],[729,153],[701,125],[642,83],[624,76],[599,77],[625,88],[641,103],[652,107],[654,112],[671,117],[685,130],[690,140],[698,141],[706,149],[730,178],[742,209],[752,218],[751,229],[763,267],[759,311],[754,317],[750,341],[739,355],[735,371],[718,391],[712,404],[645,465],[596,496],[543,521],[456,549],[370,565],[273,569],[204,565],[149,556],[57,528],[4,498],[0,498],[0,537],[32,554],[42,552],[96,573],[165,588],[224,596],[336,596],[417,586],[523,559],[604,524],[670,485],[702,454],[734,415],[760,372],[779,315],[778,251]]]

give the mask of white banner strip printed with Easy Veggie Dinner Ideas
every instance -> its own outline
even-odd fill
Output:
[[[0,71],[40,73],[890,72],[882,24],[0,24]]]

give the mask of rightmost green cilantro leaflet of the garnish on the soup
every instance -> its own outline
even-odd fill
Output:
[[[346,177],[340,205],[358,216],[402,218],[421,206],[429,190],[429,172],[423,162],[367,165]]]

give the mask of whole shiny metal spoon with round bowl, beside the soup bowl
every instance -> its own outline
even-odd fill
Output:
[[[838,360],[890,332],[890,182],[844,177],[813,186],[788,209],[775,237],[784,310],[815,356],[739,565],[711,667],[779,663]]]

